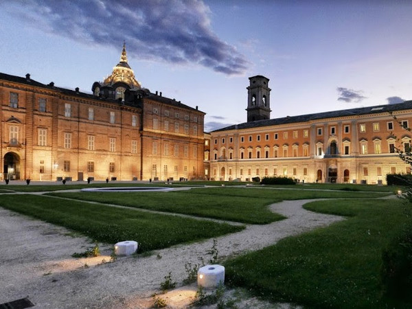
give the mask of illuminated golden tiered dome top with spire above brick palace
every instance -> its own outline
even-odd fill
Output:
[[[120,56],[120,62],[113,67],[111,76],[104,79],[104,86],[113,86],[117,82],[123,82],[127,84],[130,89],[141,89],[140,83],[135,78],[135,73],[131,69],[127,62],[126,55],[126,43],[123,43],[122,56]]]

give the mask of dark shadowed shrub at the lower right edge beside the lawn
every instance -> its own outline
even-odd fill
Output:
[[[396,299],[412,299],[412,226],[409,224],[382,252],[381,278],[385,293]]]

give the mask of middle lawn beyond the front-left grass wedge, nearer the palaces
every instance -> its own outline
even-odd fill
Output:
[[[271,203],[302,198],[369,198],[371,193],[274,190],[262,187],[207,187],[176,192],[54,192],[54,196],[111,203],[207,218],[267,224],[283,216],[268,209]],[[373,193],[373,196],[386,194]],[[217,198],[218,196],[218,198]]]

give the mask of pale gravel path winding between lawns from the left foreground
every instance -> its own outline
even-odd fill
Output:
[[[284,201],[271,210],[287,218],[269,225],[248,225],[239,233],[216,238],[220,257],[237,255],[274,244],[286,236],[330,225],[342,217],[306,211],[314,200]],[[182,285],[185,263],[207,261],[213,240],[156,251],[148,257],[119,258],[108,262],[111,249],[102,244],[103,256],[73,259],[93,244],[64,228],[32,220],[0,208],[0,304],[29,297],[35,308],[148,308],[152,293],[159,293],[165,275]],[[138,241],[138,240],[137,240]],[[85,264],[87,264],[85,266]],[[196,284],[181,286],[165,297],[171,308],[185,308]],[[162,296],[163,297],[163,296]]]

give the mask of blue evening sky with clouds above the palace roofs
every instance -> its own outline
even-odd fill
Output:
[[[0,72],[91,93],[124,41],[142,87],[247,121],[249,77],[271,118],[412,100],[412,1],[0,0]]]

